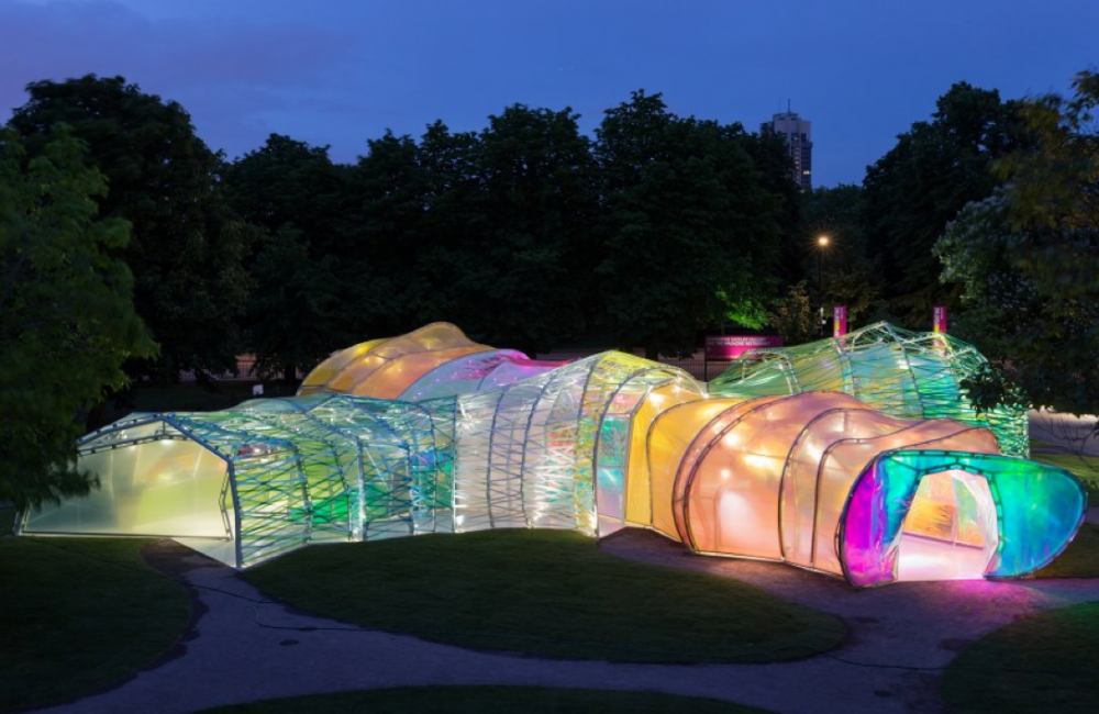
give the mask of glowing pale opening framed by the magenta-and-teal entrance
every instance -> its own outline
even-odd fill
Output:
[[[980,578],[998,544],[988,481],[959,469],[929,473],[901,526],[897,580]]]

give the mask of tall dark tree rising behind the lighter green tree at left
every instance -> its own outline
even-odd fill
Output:
[[[190,116],[122,77],[26,89],[30,100],[11,125],[31,156],[42,154],[54,125],[70,125],[110,186],[101,215],[133,226],[121,250],[142,320],[160,344],[159,359],[134,371],[173,381],[182,369],[235,369],[248,287],[242,261],[254,234],[226,211],[220,157],[195,134]]]

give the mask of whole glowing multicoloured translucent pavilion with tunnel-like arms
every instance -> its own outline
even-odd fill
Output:
[[[27,514],[22,532],[170,536],[248,567],[309,543],[634,526],[856,585],[1051,561],[1083,522],[1080,484],[1001,456],[972,415],[928,419],[926,394],[956,392],[964,362],[943,355],[961,348],[920,357],[877,330],[804,348],[817,367],[798,353],[726,373],[717,391],[741,391],[714,398],[632,355],[539,362],[429,325],[334,354],[297,398],[89,434],[81,466],[102,488]],[[891,386],[870,384],[879,372]],[[830,373],[856,394],[774,387]],[[867,403],[888,393],[893,413]],[[912,399],[920,417],[904,419]]]

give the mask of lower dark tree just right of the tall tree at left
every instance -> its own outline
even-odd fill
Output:
[[[262,378],[292,382],[299,370],[357,342],[351,326],[363,303],[353,286],[367,276],[355,275],[351,178],[326,147],[278,134],[225,171],[229,203],[263,231],[248,260],[255,290],[244,328]]]

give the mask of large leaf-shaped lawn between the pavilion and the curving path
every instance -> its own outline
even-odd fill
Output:
[[[502,529],[313,546],[245,573],[269,595],[459,646],[631,662],[761,662],[840,644],[835,617],[751,585]]]

